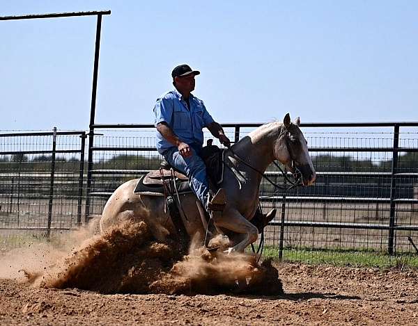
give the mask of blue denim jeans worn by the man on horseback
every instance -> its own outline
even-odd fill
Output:
[[[173,168],[183,172],[189,178],[189,185],[199,198],[203,207],[208,209],[209,184],[206,174],[206,165],[199,156],[201,147],[190,145],[193,155],[183,157],[177,147],[167,149],[162,155]]]

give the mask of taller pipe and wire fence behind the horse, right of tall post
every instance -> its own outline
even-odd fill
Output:
[[[223,126],[230,138],[238,141],[259,125]],[[117,163],[92,170],[95,178],[92,202],[100,207],[101,198],[108,196],[112,188],[111,178],[129,178],[126,173],[143,174],[148,171],[146,168],[157,168],[160,158],[155,152],[150,124],[93,127],[100,132],[113,132],[113,137],[120,137],[120,143],[115,145],[112,136],[98,136],[95,146],[89,149],[92,157],[131,156],[130,160],[135,161],[132,155],[141,153],[137,161],[150,165],[140,163],[138,170],[132,170],[135,164],[125,166],[129,172],[117,169]],[[418,177],[418,140],[417,129],[407,129],[418,127],[418,123],[302,124],[301,127],[318,171],[317,183],[286,194],[275,193],[269,184],[261,184],[263,208],[279,209],[267,229],[267,245],[278,248],[279,257],[285,259],[284,251],[295,249],[415,252],[418,199],[412,194]],[[401,133],[400,128],[405,132]],[[129,130],[142,131],[143,136],[116,136],[127,135]],[[284,182],[275,168],[270,167],[267,173]],[[100,213],[100,209],[95,213]]]

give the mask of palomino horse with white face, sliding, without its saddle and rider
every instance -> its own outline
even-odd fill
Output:
[[[235,142],[224,154],[224,178],[219,187],[226,193],[226,205],[222,214],[212,215],[217,230],[228,234],[228,252],[243,252],[258,238],[258,229],[250,222],[258,206],[258,190],[262,175],[274,160],[289,171],[302,175],[303,186],[314,184],[316,172],[309,156],[307,140],[299,129],[300,118],[291,122],[286,114],[283,123],[263,124],[247,136]],[[233,172],[238,171],[238,179]],[[134,189],[139,179],[132,179],[119,186],[109,197],[102,211],[100,230],[124,220],[142,220],[148,225],[156,241],[164,242],[176,234],[176,228],[164,210],[164,197],[139,195]],[[203,240],[206,227],[199,213],[199,199],[193,194],[180,195],[180,209],[185,231],[190,238]],[[200,208],[201,209],[201,208]]]

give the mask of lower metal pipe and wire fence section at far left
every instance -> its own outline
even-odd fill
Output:
[[[0,133],[0,250],[74,229],[84,215],[84,131]]]

